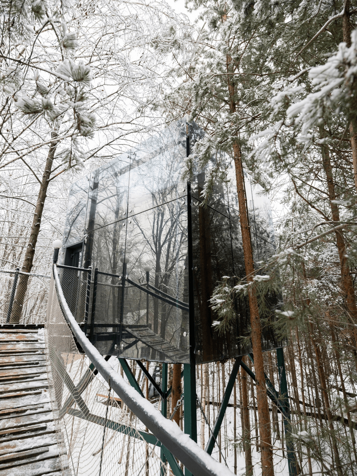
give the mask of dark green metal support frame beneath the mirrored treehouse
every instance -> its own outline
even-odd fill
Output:
[[[295,455],[294,449],[294,442],[292,439],[292,425],[290,419],[290,405],[289,405],[289,395],[288,395],[288,385],[286,379],[286,370],[285,370],[285,360],[284,360],[284,351],[283,348],[279,348],[276,350],[277,354],[277,364],[278,364],[278,372],[279,372],[279,383],[280,383],[280,394],[274,388],[274,385],[271,383],[267,375],[265,375],[265,381],[267,385],[267,394],[269,398],[274,402],[277,406],[280,413],[283,415],[284,420],[284,429],[286,435],[286,446],[287,446],[287,456],[288,456],[288,467],[289,467],[289,476],[296,476],[297,475],[297,459]],[[249,354],[248,357],[254,363],[254,358],[252,354]],[[93,364],[90,364],[88,370],[85,372],[83,377],[80,379],[79,383],[75,385],[71,378],[69,377],[64,362],[62,361],[61,357],[57,355],[56,351],[51,349],[50,350],[50,358],[53,361],[56,370],[58,371],[63,383],[66,385],[70,392],[70,396],[64,402],[62,408],[60,409],[59,415],[60,417],[64,416],[66,413],[72,416],[76,416],[79,418],[86,419],[93,423],[100,424],[101,426],[105,426],[106,428],[110,428],[114,431],[118,431],[120,433],[137,437],[140,437],[149,444],[154,446],[158,446],[160,448],[160,456],[162,461],[165,463],[167,461],[170,464],[172,472],[175,476],[183,476],[182,470],[179,467],[179,464],[175,457],[170,453],[170,451],[151,433],[145,431],[134,430],[133,428],[120,424],[116,421],[108,420],[104,417],[100,417],[97,415],[92,415],[86,406],[84,400],[81,397],[81,394],[89,385],[89,383],[93,380],[94,375],[96,373],[96,369]],[[107,359],[109,356],[107,357]],[[133,375],[130,366],[126,359],[118,357],[120,365],[125,372],[126,377],[129,380],[130,385],[136,389],[140,395],[143,396],[142,391],[138,382]],[[223,422],[224,415],[226,413],[228,403],[232,394],[232,390],[235,385],[235,381],[237,378],[237,374],[239,371],[239,367],[241,366],[248,375],[255,380],[255,374],[251,371],[251,369],[241,361],[242,357],[237,357],[234,363],[231,375],[229,377],[229,381],[223,396],[223,400],[216,418],[216,421],[212,428],[212,433],[206,445],[206,452],[208,454],[212,454],[214,445],[217,441],[218,433],[221,429],[221,425]],[[195,375],[195,365],[191,364],[184,364],[183,365],[183,396],[184,396],[184,432],[188,434],[194,441],[197,442],[197,416],[196,416],[196,375]],[[162,364],[162,385],[161,385],[161,392],[164,395],[161,402],[161,413],[162,415],[167,417],[167,397],[170,395],[170,390],[167,390],[168,385],[168,364],[167,362],[163,362]],[[72,408],[73,403],[76,403],[78,409]],[[162,467],[160,470],[160,476],[165,476],[164,468]],[[191,472],[189,472],[185,468],[184,476],[193,476]]]

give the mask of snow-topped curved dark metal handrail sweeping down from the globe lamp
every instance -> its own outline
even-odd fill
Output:
[[[197,443],[180,430],[174,421],[165,418],[112,368],[110,363],[89,342],[72,315],[63,295],[56,264],[53,265],[53,275],[61,309],[72,333],[98,372],[124,404],[193,475],[233,476],[233,473],[226,466],[214,460],[200,448]]]

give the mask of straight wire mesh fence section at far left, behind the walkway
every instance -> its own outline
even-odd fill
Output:
[[[44,324],[50,276],[0,269],[0,324]]]

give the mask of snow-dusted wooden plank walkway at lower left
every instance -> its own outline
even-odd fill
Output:
[[[70,476],[57,438],[43,326],[0,326],[0,476]]]

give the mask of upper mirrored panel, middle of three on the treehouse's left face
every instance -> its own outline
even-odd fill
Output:
[[[129,154],[122,154],[91,175],[87,233],[126,216]]]

